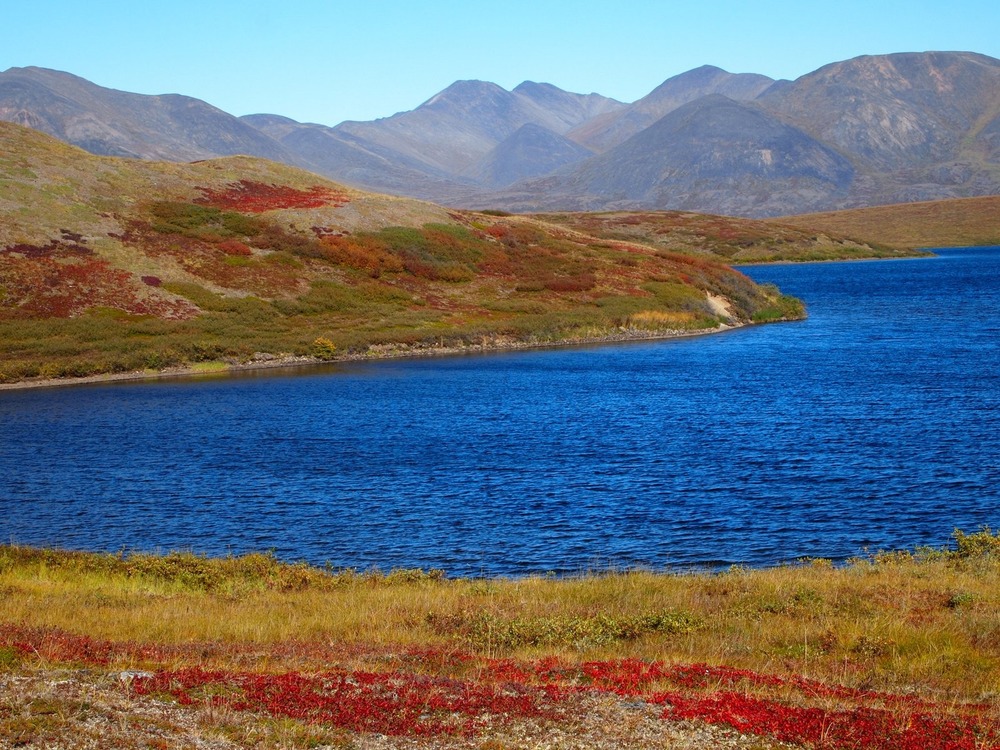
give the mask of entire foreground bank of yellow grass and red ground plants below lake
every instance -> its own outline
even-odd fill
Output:
[[[955,541],[518,580],[3,547],[0,744],[1000,747],[1000,537]]]

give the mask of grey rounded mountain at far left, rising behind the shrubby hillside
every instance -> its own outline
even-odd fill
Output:
[[[114,91],[43,68],[0,73],[0,119],[94,154],[172,161],[248,154],[296,163],[256,128],[199,99]]]

